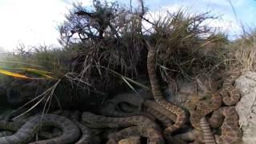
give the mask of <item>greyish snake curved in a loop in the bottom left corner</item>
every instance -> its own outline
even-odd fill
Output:
[[[41,126],[56,126],[62,129],[62,135],[57,138],[51,138],[47,140],[42,140],[38,142],[31,142],[31,144],[36,143],[47,143],[47,144],[61,144],[75,142],[80,134],[78,126],[71,122],[69,119],[54,115],[46,114],[43,117],[38,115],[27,121],[18,131],[10,136],[0,138],[1,144],[22,144],[28,143],[34,137],[34,134],[40,130]],[[8,126],[6,128],[9,128]]]

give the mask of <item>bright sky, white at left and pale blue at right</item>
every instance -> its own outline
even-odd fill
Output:
[[[109,0],[110,1],[110,0]],[[137,2],[138,0],[132,0]],[[91,6],[91,0],[0,0],[0,51],[15,50],[20,44],[30,47],[38,45],[60,46],[57,26],[64,20],[64,14],[72,8],[72,2]],[[118,0],[118,2],[130,1]],[[174,12],[186,7],[191,14],[210,11],[219,20],[210,26],[221,27],[232,38],[241,34],[241,23],[256,26],[255,0],[145,0],[151,13],[161,10]],[[232,6],[234,10],[232,10]]]

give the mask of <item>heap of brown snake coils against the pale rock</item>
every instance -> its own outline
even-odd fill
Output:
[[[215,138],[217,142],[224,143],[236,142],[242,137],[242,132],[238,127],[238,114],[234,108],[221,107],[222,102],[230,106],[235,105],[240,99],[240,93],[238,89],[233,86],[233,84],[234,80],[241,74],[241,71],[233,70],[230,74],[231,75],[229,77],[225,78],[222,84],[222,90],[212,95],[211,103],[206,101],[198,101],[191,102],[194,103],[192,106],[188,105],[190,110],[190,122],[194,128],[199,130],[201,129],[199,127],[200,118],[203,118],[207,114],[214,112],[209,120],[210,125],[213,127],[218,127],[221,125],[223,118],[225,117],[226,122],[222,124],[222,135]]]

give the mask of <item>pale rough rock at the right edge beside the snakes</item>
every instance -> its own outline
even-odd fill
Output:
[[[235,83],[240,90],[241,100],[236,106],[239,124],[242,127],[242,141],[246,144],[256,143],[256,73],[248,71],[242,74]]]

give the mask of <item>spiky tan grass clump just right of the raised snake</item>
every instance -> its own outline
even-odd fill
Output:
[[[181,9],[154,21],[157,63],[166,82],[175,76],[194,79],[220,65],[218,51],[227,39],[204,24],[210,18],[214,17],[208,13],[190,15]]]

